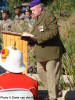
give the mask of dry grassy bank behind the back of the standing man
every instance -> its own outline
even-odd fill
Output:
[[[67,79],[70,83],[68,84],[70,89],[74,89],[75,85],[75,24],[72,24],[74,22],[74,16],[75,14],[73,13],[71,17],[66,17],[67,20],[63,17],[63,19],[58,21],[58,24],[60,23],[61,25],[59,29],[61,30],[59,31],[60,36],[66,48],[66,53],[63,55],[62,59],[62,66],[64,67],[65,74],[67,75]],[[63,78],[61,78],[60,85],[63,89],[67,86],[65,86]]]

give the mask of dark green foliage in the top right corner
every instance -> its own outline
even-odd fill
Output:
[[[58,15],[69,16],[75,10],[75,0],[55,0],[48,5],[49,10]]]

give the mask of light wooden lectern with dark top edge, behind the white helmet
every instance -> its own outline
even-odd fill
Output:
[[[26,66],[25,74],[27,74],[27,41],[21,38],[21,33],[2,31],[3,35],[3,47],[14,46],[18,48],[23,54],[23,62]]]

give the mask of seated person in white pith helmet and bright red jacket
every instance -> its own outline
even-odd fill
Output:
[[[0,90],[28,89],[32,92],[34,100],[38,100],[38,83],[35,79],[22,74],[26,67],[19,49],[12,46],[3,48],[0,54],[0,65],[6,70],[0,75]]]

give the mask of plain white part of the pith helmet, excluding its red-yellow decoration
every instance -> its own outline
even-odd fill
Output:
[[[9,54],[6,58],[6,61],[3,62],[1,60],[1,54],[0,54],[0,65],[14,73],[20,73],[25,71],[25,65],[23,64],[23,56],[20,50],[16,49],[14,50],[13,47],[7,47],[9,50]]]

